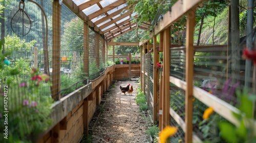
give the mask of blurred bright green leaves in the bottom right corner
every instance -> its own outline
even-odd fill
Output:
[[[239,121],[238,126],[229,122],[220,122],[219,128],[221,136],[228,142],[255,142],[253,103],[256,101],[255,95],[248,94],[247,90],[237,90],[240,101],[238,109],[240,113],[233,112],[233,116]]]

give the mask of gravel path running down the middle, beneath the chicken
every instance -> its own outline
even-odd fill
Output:
[[[119,86],[133,85],[132,96],[121,93]],[[146,123],[135,102],[138,83],[117,81],[93,132],[93,142],[147,142]]]

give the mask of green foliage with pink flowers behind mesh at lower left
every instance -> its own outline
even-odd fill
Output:
[[[9,70],[5,68],[4,70]],[[8,100],[8,108],[0,109],[1,116],[8,110],[8,125],[0,124],[1,129],[8,126],[8,140],[0,138],[0,142],[30,142],[30,135],[36,135],[46,130],[52,123],[49,115],[53,99],[49,96],[41,96],[40,88],[43,84],[49,84],[49,76],[40,74],[39,69],[26,71],[30,77],[20,80],[18,75],[8,75],[13,77],[13,82],[2,84],[0,94],[3,90],[8,91],[4,96],[0,96],[1,106]],[[6,78],[7,78],[6,77]],[[2,90],[1,90],[2,89]],[[4,123],[5,117],[0,117],[0,122]],[[3,130],[0,131],[3,134]],[[5,139],[5,140],[4,140]]]

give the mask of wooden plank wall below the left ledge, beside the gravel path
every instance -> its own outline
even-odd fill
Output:
[[[93,81],[95,83],[98,83],[98,85],[92,90],[90,95],[86,99],[84,99],[86,100],[86,102],[84,102],[84,100],[81,100],[79,104],[67,114],[67,116],[65,116],[56,126],[52,128],[59,128],[58,134],[52,134],[51,129],[36,142],[50,143],[53,142],[53,138],[55,140],[54,143],[56,142],[56,140],[57,142],[79,142],[84,134],[87,135],[89,130],[88,126],[96,111],[97,100],[99,103],[101,102],[103,92],[111,85],[112,77],[114,74],[114,66],[110,68],[111,69],[106,71],[107,73],[103,75],[104,78],[98,78],[98,80],[101,81]],[[76,94],[74,94],[74,96],[76,96]]]

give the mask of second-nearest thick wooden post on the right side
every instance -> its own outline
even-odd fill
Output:
[[[169,72],[170,72],[170,27],[164,30],[164,55],[163,55],[163,128],[169,125],[170,114],[169,114],[169,104],[170,104],[170,82],[169,82]]]

